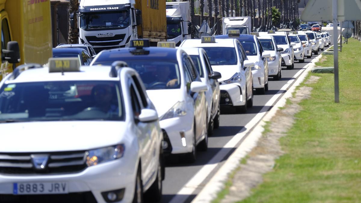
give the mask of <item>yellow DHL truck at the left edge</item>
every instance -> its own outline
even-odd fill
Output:
[[[43,65],[52,57],[50,12],[50,0],[0,0],[0,79],[13,71],[2,51],[8,48],[9,41],[19,44],[20,61],[16,65]]]

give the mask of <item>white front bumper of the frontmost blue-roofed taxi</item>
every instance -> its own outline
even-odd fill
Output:
[[[160,127],[168,135],[171,145],[171,150],[165,151],[165,153],[183,154],[192,151],[193,121],[193,115],[188,113],[185,116],[159,121]]]

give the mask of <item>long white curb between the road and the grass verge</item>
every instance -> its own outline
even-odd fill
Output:
[[[217,173],[214,174],[200,193],[193,199],[192,203],[208,203],[217,198],[219,191],[224,189],[225,182],[228,180],[229,174],[239,166],[240,160],[242,160],[255,146],[257,146],[258,139],[262,136],[262,132],[264,131],[263,126],[267,121],[271,120],[278,111],[279,107],[283,107],[286,104],[286,100],[292,97],[292,93],[295,91],[295,88],[304,81],[307,74],[315,66],[315,62],[317,62],[321,57],[322,54],[314,58],[309,64],[304,66],[305,70],[303,72],[300,74],[297,73],[297,76],[295,75],[296,78],[298,77],[295,79],[295,82],[287,88],[287,91],[279,98],[278,102],[274,104],[268,113],[264,115],[262,120],[248,132],[244,141],[229,156]]]

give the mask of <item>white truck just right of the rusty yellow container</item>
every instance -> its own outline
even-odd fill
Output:
[[[178,47],[183,40],[191,39],[190,2],[166,2],[167,41]]]

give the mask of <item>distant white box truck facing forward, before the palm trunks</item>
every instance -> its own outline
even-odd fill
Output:
[[[222,34],[228,34],[229,30],[239,30],[240,34],[249,35],[252,32],[251,17],[223,17]]]

